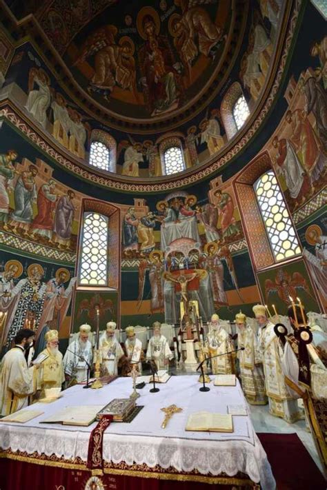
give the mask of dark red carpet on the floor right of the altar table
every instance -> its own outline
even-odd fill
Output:
[[[326,490],[327,484],[296,433],[258,433],[273,469],[277,490]]]

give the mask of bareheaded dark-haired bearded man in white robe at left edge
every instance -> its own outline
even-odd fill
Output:
[[[21,329],[14,338],[14,347],[1,361],[0,366],[0,414],[13,414],[28,405],[28,396],[37,388],[36,369],[39,365],[28,368],[25,350],[30,347],[34,331]]]

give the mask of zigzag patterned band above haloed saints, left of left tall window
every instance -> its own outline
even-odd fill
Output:
[[[42,258],[50,258],[55,261],[71,263],[75,266],[76,254],[74,252],[63,252],[54,248],[45,247],[44,245],[38,245],[24,238],[3,232],[0,232],[0,243],[7,247],[21,250],[22,252],[28,252],[29,254],[42,256]]]

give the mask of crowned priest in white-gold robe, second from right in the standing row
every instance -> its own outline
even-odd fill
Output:
[[[246,315],[243,313],[239,312],[235,316],[235,324],[238,347],[244,347],[243,351],[237,352],[244,395],[251,405],[266,405],[268,399],[264,387],[264,367],[258,358],[257,336],[246,324]]]

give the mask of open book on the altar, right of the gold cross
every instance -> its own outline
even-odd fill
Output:
[[[197,411],[188,416],[186,431],[232,432],[232,416],[230,414],[211,414],[208,411]]]

